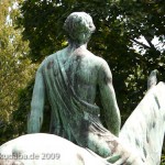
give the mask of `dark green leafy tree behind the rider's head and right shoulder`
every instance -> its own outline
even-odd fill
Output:
[[[163,0],[24,1],[20,24],[24,26],[24,38],[30,41],[30,57],[41,62],[66,45],[63,23],[70,12],[90,13],[97,32],[89,50],[109,63],[119,107],[127,118],[143,97],[150,72],[157,68],[164,77],[164,50],[152,43],[155,36],[164,42],[163,4]],[[140,36],[144,36],[147,44],[140,42]]]

